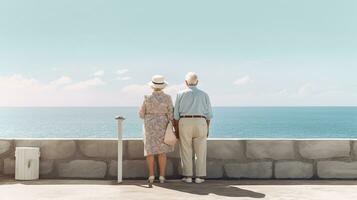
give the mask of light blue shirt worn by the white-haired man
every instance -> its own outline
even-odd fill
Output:
[[[212,107],[208,95],[196,86],[190,86],[177,94],[174,118],[180,119],[183,115],[202,115],[212,119]]]

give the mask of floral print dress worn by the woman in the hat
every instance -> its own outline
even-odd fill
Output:
[[[173,120],[171,97],[162,91],[146,95],[139,115],[144,119],[144,155],[172,152],[173,147],[164,143],[167,124]]]

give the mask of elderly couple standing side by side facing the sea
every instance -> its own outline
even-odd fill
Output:
[[[197,88],[198,76],[186,75],[186,89],[177,94],[175,107],[169,95],[163,92],[167,86],[161,75],[152,77],[149,83],[152,94],[146,95],[139,115],[144,119],[144,155],[149,169],[149,184],[155,181],[154,156],[158,156],[159,181],[165,182],[166,153],[174,150],[164,142],[169,122],[175,127],[179,139],[182,165],[182,181],[193,182],[193,153],[195,154],[195,183],[203,183],[206,176],[207,137],[212,118],[208,95]]]

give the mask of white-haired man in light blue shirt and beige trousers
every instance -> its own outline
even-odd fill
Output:
[[[177,136],[180,138],[182,172],[186,183],[192,183],[193,149],[195,153],[195,183],[203,183],[206,176],[207,137],[212,107],[208,95],[197,88],[198,77],[190,72],[186,75],[187,89],[176,98],[174,118]],[[193,149],[192,149],[193,146]]]

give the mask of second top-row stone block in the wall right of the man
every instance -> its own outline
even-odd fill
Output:
[[[251,159],[295,159],[294,141],[250,140],[247,141],[247,157]]]

